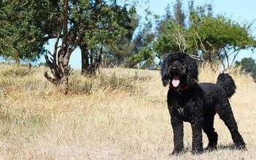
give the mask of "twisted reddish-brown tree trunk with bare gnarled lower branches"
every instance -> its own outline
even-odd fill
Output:
[[[67,41],[68,39],[68,28],[67,28],[67,21],[68,21],[68,0],[63,1],[64,4],[64,12],[63,12],[63,29],[59,31],[58,37],[56,39],[55,45],[54,45],[54,51],[53,55],[49,58],[48,55],[45,55],[46,63],[50,67],[50,72],[53,74],[53,77],[49,76],[47,71],[45,71],[45,78],[48,79],[48,81],[52,82],[56,85],[58,89],[61,90],[65,95],[67,95],[68,92],[68,77],[71,72],[71,68],[69,67],[69,58],[72,52],[75,50],[76,47],[78,47],[78,44],[80,43],[80,39],[83,35],[82,31],[78,30],[78,36],[76,37],[75,41],[73,43],[69,43]],[[58,51],[58,44],[61,32],[63,32],[63,38],[61,47]]]

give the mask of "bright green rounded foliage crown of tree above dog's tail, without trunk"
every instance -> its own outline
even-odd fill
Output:
[[[244,49],[251,47],[255,43],[252,36],[249,36],[245,26],[241,26],[222,16],[203,17],[197,24],[197,28],[191,27],[189,29],[197,32],[204,46],[208,48],[222,49],[229,45]],[[199,44],[199,41],[197,41],[197,44]]]

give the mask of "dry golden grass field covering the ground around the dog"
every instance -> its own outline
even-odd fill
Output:
[[[248,151],[230,150],[230,133],[216,116],[218,151],[195,156],[191,127],[188,151],[168,156],[173,132],[166,106],[167,87],[159,71],[103,69],[97,77],[73,71],[69,95],[42,76],[45,68],[0,65],[0,159],[254,159],[256,84],[233,72],[237,91],[230,100]],[[200,81],[217,80],[208,66]],[[203,137],[204,147],[207,145]]]

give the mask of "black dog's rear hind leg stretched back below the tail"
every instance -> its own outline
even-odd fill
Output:
[[[224,121],[227,128],[230,130],[233,142],[237,148],[245,149],[245,143],[243,137],[238,132],[238,126],[233,115],[230,103],[227,98],[225,100],[219,101],[219,104],[215,108],[216,112],[219,114],[219,118]]]

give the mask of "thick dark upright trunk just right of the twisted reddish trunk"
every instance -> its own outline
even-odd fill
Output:
[[[87,44],[80,44],[80,49],[81,49],[81,57],[82,57],[82,75],[85,75],[88,73],[88,68],[89,68],[89,55],[88,55],[88,48]]]

